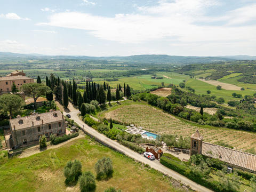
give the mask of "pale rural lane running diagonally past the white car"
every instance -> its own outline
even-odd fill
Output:
[[[92,127],[88,126],[81,119],[79,119],[79,117],[78,117],[79,113],[80,112],[78,110],[73,110],[73,111],[70,111],[68,114],[71,115],[71,119],[73,119],[79,126],[82,127],[82,129],[84,129],[86,132],[91,134],[93,137],[107,143],[107,145],[109,145],[119,151],[122,151],[126,156],[129,156],[141,163],[148,164],[153,169],[158,170],[166,175],[169,175],[169,177],[172,177],[185,185],[189,185],[192,189],[194,189],[196,191],[212,192],[212,190],[207,189],[206,187],[203,187],[201,185],[198,185],[196,182],[189,180],[188,178],[184,177],[183,175],[181,175],[171,169],[168,169],[167,167],[165,167],[164,165],[159,163],[159,161],[157,161],[157,160],[150,161],[149,159],[143,157],[143,155],[140,155],[140,154],[134,152],[133,150],[131,150],[123,145],[120,145],[118,142],[107,138],[105,135],[99,133],[98,131],[95,131]],[[63,115],[66,115],[66,114],[67,113],[65,111],[63,111]]]

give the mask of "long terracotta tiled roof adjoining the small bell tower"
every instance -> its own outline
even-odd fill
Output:
[[[256,155],[203,142],[202,155],[217,158],[220,161],[256,171]]]

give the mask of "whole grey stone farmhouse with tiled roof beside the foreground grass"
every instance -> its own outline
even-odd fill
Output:
[[[38,143],[39,138],[45,135],[50,139],[51,134],[62,136],[66,134],[65,118],[58,111],[36,114],[10,119],[10,135],[6,143],[9,149],[29,146]]]

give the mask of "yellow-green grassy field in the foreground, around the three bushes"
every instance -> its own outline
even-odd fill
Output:
[[[95,175],[94,164],[105,156],[113,161],[113,177],[97,180],[95,191],[104,191],[110,186],[122,191],[183,191],[173,188],[173,180],[162,173],[135,163],[88,137],[27,158],[14,157],[0,164],[0,179],[4,181],[0,191],[80,191],[78,183],[65,185],[63,167],[68,161],[78,159],[82,163],[82,171],[92,171]]]

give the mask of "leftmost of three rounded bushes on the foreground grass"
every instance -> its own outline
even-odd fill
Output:
[[[74,162],[69,161],[64,167],[64,176],[66,177],[65,183],[76,181],[82,174],[82,164],[78,160]]]

